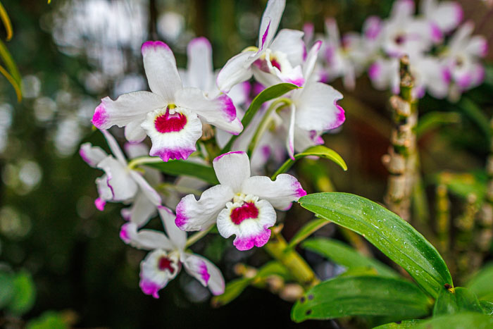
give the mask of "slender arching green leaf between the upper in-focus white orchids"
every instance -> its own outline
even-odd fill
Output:
[[[264,104],[266,101],[270,101],[271,99],[281,97],[283,94],[286,94],[287,92],[298,88],[299,87],[297,85],[293,85],[292,83],[280,83],[278,85],[273,85],[272,87],[263,89],[263,91],[260,94],[258,94],[253,101],[251,101],[248,110],[246,110],[246,113],[243,116],[242,119],[243,131],[246,130],[246,127],[250,124],[251,120],[254,118],[255,114],[257,113],[258,108],[260,108],[262,104]],[[227,142],[225,147],[223,147],[223,149],[220,151],[220,154],[225,154],[229,152],[231,150],[233,142],[235,142],[235,140],[240,135],[232,136],[230,141]]]

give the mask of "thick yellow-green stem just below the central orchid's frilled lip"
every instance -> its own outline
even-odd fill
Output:
[[[272,231],[273,236],[270,237],[269,242],[264,246],[270,256],[280,261],[305,289],[320,283],[313,270],[296,250],[294,248],[288,249],[285,238],[279,232],[276,232],[275,229]]]

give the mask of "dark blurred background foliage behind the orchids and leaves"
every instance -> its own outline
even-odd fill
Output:
[[[316,32],[323,32],[324,18],[333,16],[342,32],[359,31],[368,15],[387,17],[392,2],[288,0],[281,27],[301,29],[311,21]],[[475,22],[476,32],[489,39],[492,49],[493,8],[488,1],[459,2],[465,18]],[[8,0],[2,4],[13,25],[13,38],[6,46],[22,75],[23,100],[18,102],[8,81],[0,79],[0,303],[7,300],[2,299],[6,293],[2,283],[15,286],[11,282],[20,280],[23,289],[31,287],[35,292],[26,297],[24,309],[15,309],[15,297],[9,295],[11,304],[1,311],[0,326],[19,328],[36,319],[29,322],[32,328],[39,328],[35,326],[39,323],[48,323],[45,328],[63,328],[63,323],[77,328],[188,328],[239,325],[238,321],[241,325],[337,328],[333,321],[296,325],[289,319],[289,302],[253,287],[235,302],[211,309],[208,290],[183,274],[161,292],[161,299],[142,294],[138,268],[144,253],[125,246],[118,237],[121,205],[109,204],[103,213],[96,211],[94,179],[100,173],[77,154],[85,141],[107,149],[90,124],[101,97],[147,88],[139,51],[142,42],[167,42],[178,66],[185,67],[187,42],[205,36],[213,44],[214,66],[220,68],[232,55],[256,43],[266,1],[53,0],[46,4]],[[6,31],[0,30],[0,36],[5,39]],[[435,201],[437,180],[443,179],[437,175],[444,170],[485,177],[492,137],[492,57],[490,52],[485,83],[464,94],[457,104],[428,96],[420,101],[420,118],[432,111],[456,113],[453,123],[425,130],[419,139],[430,204]],[[342,129],[325,135],[325,141],[342,155],[349,170],[342,173],[329,161],[309,159],[299,161],[295,170],[309,192],[338,190],[382,201],[387,170],[381,158],[392,128],[389,95],[375,91],[367,77],[358,79],[352,92],[344,90],[339,80],[332,85],[344,94],[341,104],[347,121]],[[121,132],[116,134],[122,137]],[[466,189],[461,194],[462,182],[458,181],[458,189],[451,187],[452,192],[459,191],[452,199],[453,216],[463,212],[463,200],[470,192]],[[484,185],[472,188],[480,193]],[[285,236],[292,237],[311,216],[295,206],[292,218],[297,219],[285,223]],[[431,230],[434,225],[430,223]],[[334,225],[326,225],[317,234],[351,242],[351,236]],[[194,249],[218,263],[226,280],[237,276],[235,263],[261,266],[268,260],[260,249],[237,252],[215,235]],[[342,271],[316,254],[304,252],[304,256],[320,278]]]

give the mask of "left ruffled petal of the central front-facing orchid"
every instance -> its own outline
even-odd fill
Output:
[[[219,211],[233,198],[229,186],[216,185],[202,193],[199,201],[188,194],[176,206],[175,224],[180,230],[197,231],[209,228],[216,222]]]

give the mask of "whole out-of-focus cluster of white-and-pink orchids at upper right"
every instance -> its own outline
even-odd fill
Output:
[[[480,85],[487,40],[473,35],[472,22],[463,22],[461,6],[455,1],[423,0],[417,15],[415,10],[413,0],[397,0],[389,18],[370,16],[361,34],[349,32],[342,38],[335,20],[327,19],[318,75],[325,82],[342,77],[344,87],[354,89],[356,77],[367,71],[376,89],[398,94],[399,58],[407,55],[415,78],[413,97],[428,92],[456,101]],[[313,27],[306,25],[305,30],[311,32]]]

